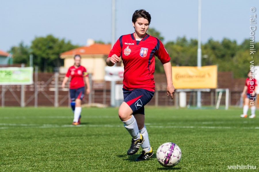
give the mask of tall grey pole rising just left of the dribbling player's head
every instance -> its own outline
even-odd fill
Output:
[[[112,0],[112,38],[111,48],[115,44],[115,0]],[[116,64],[115,64],[116,65]],[[115,65],[113,67],[115,67]],[[111,81],[111,106],[115,106],[115,81]]]

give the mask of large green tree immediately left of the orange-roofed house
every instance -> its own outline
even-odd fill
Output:
[[[60,67],[64,64],[64,60],[59,57],[60,54],[77,47],[72,45],[70,41],[59,40],[52,35],[36,37],[31,45],[33,62],[39,66],[41,71],[52,72],[54,67]]]

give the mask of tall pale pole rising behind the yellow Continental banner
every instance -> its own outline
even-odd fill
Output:
[[[201,67],[201,0],[198,0],[198,51],[197,67]],[[201,91],[197,91],[197,107],[201,107]]]

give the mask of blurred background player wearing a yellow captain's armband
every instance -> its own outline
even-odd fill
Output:
[[[63,79],[62,82],[62,88],[65,87],[66,82],[68,81],[68,77],[71,76],[70,86],[69,86],[69,93],[70,93],[70,103],[71,108],[74,113],[74,120],[73,125],[79,125],[80,124],[80,118],[81,118],[81,101],[83,100],[85,96],[85,83],[87,86],[86,93],[90,93],[90,84],[89,84],[89,78],[88,73],[85,69],[85,67],[81,66],[81,56],[75,55],[74,56],[75,63],[73,66],[69,67],[66,76]],[[84,79],[85,78],[85,83]]]

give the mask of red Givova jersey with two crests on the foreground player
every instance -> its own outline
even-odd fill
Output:
[[[123,88],[155,91],[155,56],[164,64],[170,57],[162,42],[148,34],[137,44],[134,34],[121,36],[108,57],[121,56],[124,65]]]

